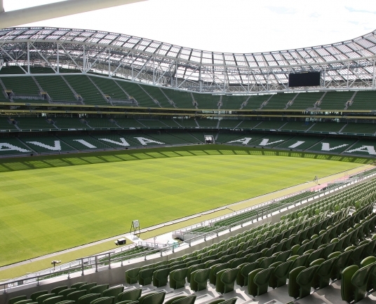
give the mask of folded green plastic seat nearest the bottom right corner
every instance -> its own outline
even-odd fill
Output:
[[[341,297],[342,300],[354,303],[365,298],[367,293],[368,279],[375,264],[370,264],[362,268],[358,265],[351,265],[344,268],[341,279]]]

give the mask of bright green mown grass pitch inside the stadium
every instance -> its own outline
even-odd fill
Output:
[[[369,162],[267,154],[205,146],[0,160],[0,265],[126,233],[134,219],[145,228]]]

